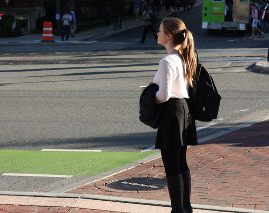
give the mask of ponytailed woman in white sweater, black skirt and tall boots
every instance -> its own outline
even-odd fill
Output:
[[[196,70],[194,40],[184,22],[175,18],[163,19],[157,35],[158,44],[166,48],[168,55],[160,60],[153,80],[159,86],[155,102],[162,103],[155,148],[161,151],[171,213],[192,213],[186,151],[187,145],[197,144],[188,92]]]

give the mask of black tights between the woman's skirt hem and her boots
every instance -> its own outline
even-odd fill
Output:
[[[167,177],[177,176],[189,170],[186,159],[187,146],[161,149],[160,152]]]

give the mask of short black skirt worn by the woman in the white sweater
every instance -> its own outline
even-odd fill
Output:
[[[197,145],[190,99],[170,98],[162,104],[155,149]]]

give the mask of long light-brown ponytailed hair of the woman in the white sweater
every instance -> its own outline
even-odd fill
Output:
[[[186,80],[193,87],[194,74],[196,72],[196,58],[194,55],[194,40],[192,33],[186,29],[184,22],[178,18],[162,19],[162,26],[166,34],[171,34],[174,43],[179,45],[179,57],[183,67],[186,67]],[[182,53],[182,54],[181,54]]]

